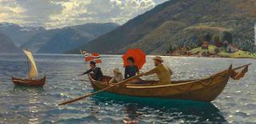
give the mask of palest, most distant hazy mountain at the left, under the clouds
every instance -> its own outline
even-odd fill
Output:
[[[19,26],[14,23],[0,23],[0,33],[6,34],[17,46],[27,42],[35,34],[45,31],[43,27]]]

